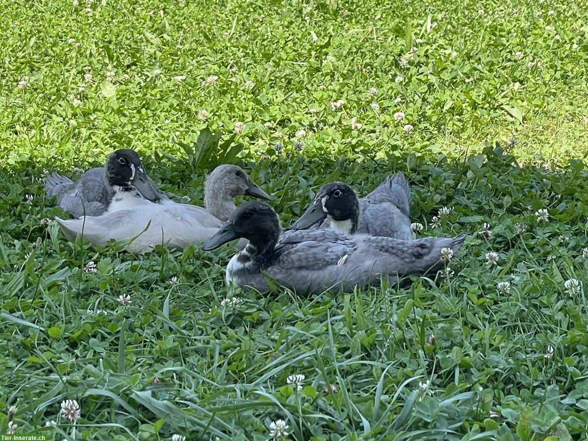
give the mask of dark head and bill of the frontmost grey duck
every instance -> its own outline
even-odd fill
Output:
[[[262,253],[273,249],[279,236],[280,220],[273,208],[266,202],[250,201],[239,205],[202,249],[213,250],[231,240],[245,238],[249,240],[248,247]]]

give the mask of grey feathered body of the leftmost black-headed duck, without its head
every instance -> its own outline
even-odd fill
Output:
[[[104,168],[96,167],[83,173],[78,181],[58,173],[46,176],[47,195],[56,196],[57,204],[64,211],[80,216],[99,216],[106,211],[111,195],[104,184]]]

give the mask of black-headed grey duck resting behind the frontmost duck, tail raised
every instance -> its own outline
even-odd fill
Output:
[[[292,229],[308,228],[411,240],[410,189],[404,173],[388,176],[362,199],[343,182],[323,185],[305,213],[292,225]]]

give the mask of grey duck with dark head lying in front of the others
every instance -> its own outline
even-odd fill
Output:
[[[269,276],[300,295],[318,295],[379,286],[382,278],[400,283],[403,276],[436,272],[444,265],[442,249],[455,253],[466,234],[400,240],[314,229],[289,230],[280,236],[273,208],[250,201],[240,205],[202,248],[213,250],[238,238],[249,243],[226,267],[229,286],[265,292],[270,289]]]

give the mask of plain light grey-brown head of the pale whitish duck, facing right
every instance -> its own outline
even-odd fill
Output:
[[[242,168],[231,164],[222,164],[215,168],[206,179],[206,189],[211,192],[218,192],[222,189],[230,198],[250,195],[266,201],[272,199],[268,193],[260,189],[259,185],[249,178]]]

